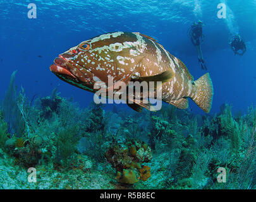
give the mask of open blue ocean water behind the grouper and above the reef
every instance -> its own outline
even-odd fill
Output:
[[[140,32],[154,37],[166,50],[183,61],[195,79],[202,76],[187,30],[194,21],[204,21],[202,52],[214,85],[211,112],[225,102],[234,110],[255,104],[256,3],[226,1],[226,19],[217,18],[217,4],[224,1],[1,1],[1,91],[10,74],[18,69],[16,84],[26,95],[49,95],[59,85],[64,97],[80,105],[92,101],[92,93],[58,80],[49,71],[58,54],[83,40],[107,32]],[[37,6],[37,18],[28,18],[28,4]],[[236,32],[246,42],[244,56],[235,56],[228,40]],[[42,56],[42,57],[38,57]],[[120,106],[119,106],[120,107]],[[125,107],[125,105],[121,106]],[[201,110],[190,102],[193,112]]]

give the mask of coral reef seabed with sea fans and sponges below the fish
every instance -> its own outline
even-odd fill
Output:
[[[0,189],[256,188],[255,106],[205,116],[170,105],[112,112],[82,109],[57,88],[29,102],[14,82],[15,73],[0,110]],[[27,181],[30,167],[37,183]]]

